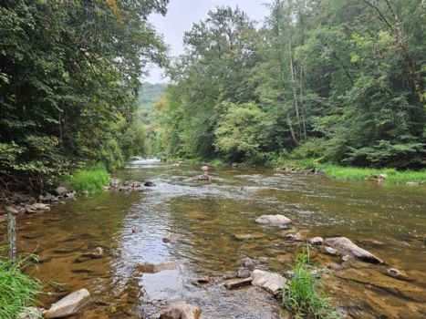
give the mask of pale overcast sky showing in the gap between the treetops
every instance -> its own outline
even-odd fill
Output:
[[[150,22],[157,32],[164,36],[165,43],[170,46],[171,56],[183,53],[182,38],[185,31],[191,30],[192,24],[205,19],[207,13],[218,5],[238,5],[249,17],[262,23],[268,10],[265,3],[272,0],[171,0],[166,16],[151,15]],[[161,78],[159,67],[150,67],[150,76],[144,82],[164,83],[167,78]]]

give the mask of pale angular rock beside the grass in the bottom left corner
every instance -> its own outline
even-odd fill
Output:
[[[68,294],[57,303],[52,304],[45,313],[45,318],[63,318],[77,314],[90,301],[90,293],[87,289]]]

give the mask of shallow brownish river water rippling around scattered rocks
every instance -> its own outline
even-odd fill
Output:
[[[194,282],[234,272],[246,257],[259,269],[285,273],[307,245],[303,239],[347,236],[386,264],[342,262],[311,247],[311,262],[323,270],[324,289],[343,316],[426,317],[425,188],[231,167],[212,169],[210,182],[192,180],[201,173],[200,165],[136,161],[118,177],[152,180],[155,187],[105,191],[20,218],[18,247],[39,255],[36,275],[51,282],[40,301],[48,307],[87,288],[93,303],[75,318],[158,318],[179,301],[199,305],[202,318],[286,318],[258,288],[228,291],[221,283]],[[293,221],[291,230],[255,223],[277,213]],[[162,242],[169,232],[176,239]],[[286,239],[286,232],[298,232],[302,241]],[[96,247],[104,257],[78,259]],[[182,265],[161,273],[136,270],[144,262],[170,261]],[[387,276],[390,267],[409,280]]]

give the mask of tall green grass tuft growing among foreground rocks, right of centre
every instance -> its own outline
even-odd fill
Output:
[[[296,318],[338,318],[336,308],[322,293],[320,279],[310,271],[309,248],[296,254],[293,276],[283,289],[283,306],[296,314]]]

